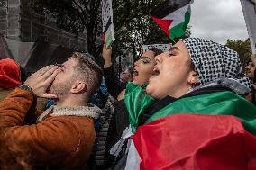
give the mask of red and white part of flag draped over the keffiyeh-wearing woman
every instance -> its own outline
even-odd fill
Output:
[[[127,170],[254,170],[256,138],[234,116],[174,114],[139,127]]]

